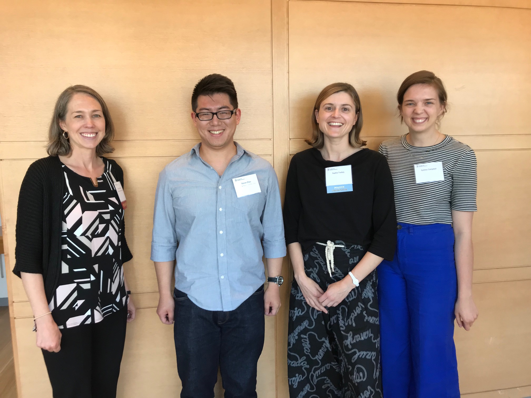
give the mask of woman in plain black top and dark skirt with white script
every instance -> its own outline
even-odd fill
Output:
[[[284,227],[293,264],[290,396],[382,397],[375,268],[392,259],[396,215],[386,159],[359,138],[354,87],[315,101],[313,148],[288,170]]]

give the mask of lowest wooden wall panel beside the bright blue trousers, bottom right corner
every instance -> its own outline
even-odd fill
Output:
[[[530,385],[531,281],[474,284],[474,299],[476,324],[455,333],[461,394]]]

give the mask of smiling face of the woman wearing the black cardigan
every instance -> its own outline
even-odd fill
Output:
[[[68,132],[72,150],[93,149],[105,137],[105,118],[100,103],[88,94],[72,96],[64,120],[59,126]]]

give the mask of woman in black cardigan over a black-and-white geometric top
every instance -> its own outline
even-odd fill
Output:
[[[57,99],[48,158],[29,167],[19,195],[16,264],[34,314],[54,397],[115,397],[125,325],[135,316],[122,264],[123,172],[99,94],[67,88]]]

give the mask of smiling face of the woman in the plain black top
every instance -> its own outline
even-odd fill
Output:
[[[341,139],[346,136],[348,140],[358,114],[350,94],[340,91],[321,102],[319,110],[315,110],[315,119],[325,137]]]

